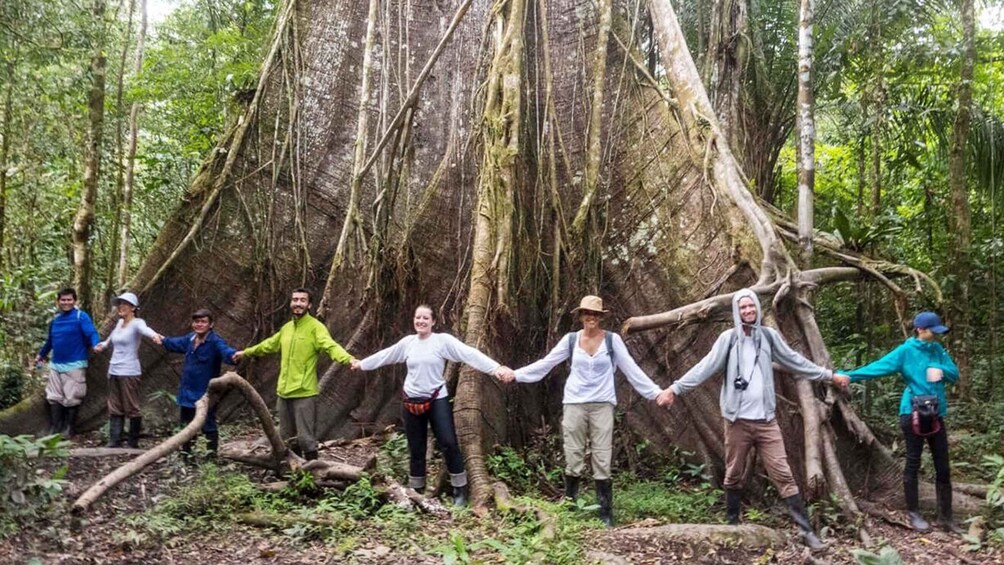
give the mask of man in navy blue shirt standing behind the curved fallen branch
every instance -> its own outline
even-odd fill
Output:
[[[186,426],[195,418],[195,403],[206,393],[209,381],[220,375],[221,365],[224,362],[234,364],[233,356],[236,349],[213,331],[213,314],[206,309],[196,310],[192,314],[191,333],[178,337],[165,337],[161,344],[168,351],[185,353],[182,382],[178,388],[178,406],[181,411],[181,425]],[[216,406],[209,407],[202,433],[206,436],[210,456],[215,456],[220,445]],[[182,448],[186,458],[191,457],[193,443],[194,440],[189,441]]]

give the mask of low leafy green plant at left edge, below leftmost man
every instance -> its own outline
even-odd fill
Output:
[[[47,473],[47,459],[63,459],[69,443],[61,436],[35,440],[0,436],[0,538],[16,532],[25,521],[43,517],[62,492],[66,467]]]

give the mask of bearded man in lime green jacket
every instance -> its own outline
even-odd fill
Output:
[[[234,361],[242,357],[259,357],[279,352],[279,382],[276,386],[279,412],[279,435],[283,441],[297,439],[303,457],[317,459],[317,440],[314,437],[317,414],[317,354],[327,353],[331,360],[347,365],[355,360],[341,345],[331,339],[327,328],[310,315],[310,291],[293,290],[289,301],[293,319],[286,322],[278,333],[247,349],[234,353]]]

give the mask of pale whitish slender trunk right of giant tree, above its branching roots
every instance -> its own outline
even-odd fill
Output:
[[[815,97],[812,93],[812,20],[815,1],[801,0],[798,18],[798,259],[812,261],[812,194],[815,190]]]

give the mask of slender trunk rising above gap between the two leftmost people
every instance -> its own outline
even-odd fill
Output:
[[[104,0],[94,0],[91,6],[93,25],[93,54],[90,59],[90,92],[87,95],[87,145],[84,149],[83,188],[80,208],[73,220],[73,285],[80,297],[80,307],[90,309],[91,253],[90,231],[94,224],[94,202],[97,200],[97,183],[100,179],[101,136],[104,126]]]

